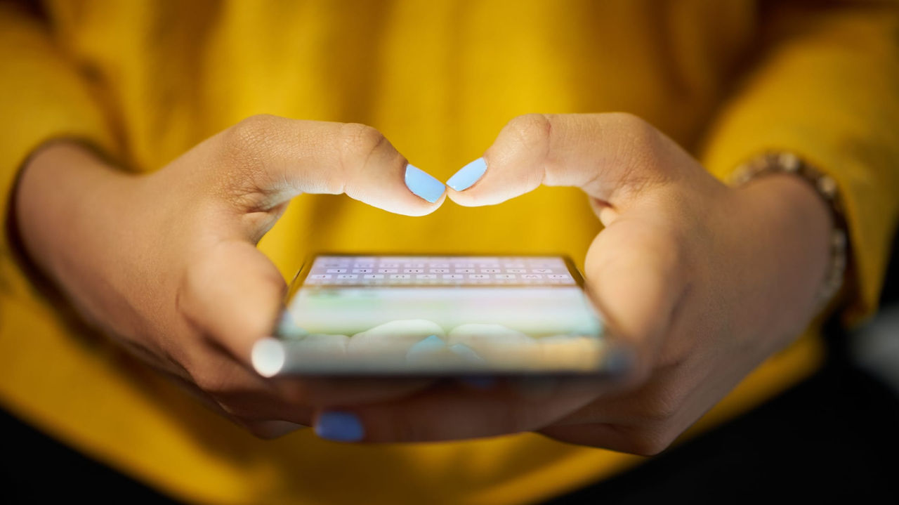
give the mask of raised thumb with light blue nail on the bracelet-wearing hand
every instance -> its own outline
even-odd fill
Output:
[[[672,155],[688,156],[630,114],[529,114],[503,128],[483,163],[450,178],[449,198],[494,205],[544,184],[580,187],[617,207],[636,190],[677,176],[666,169],[670,164],[656,163]]]

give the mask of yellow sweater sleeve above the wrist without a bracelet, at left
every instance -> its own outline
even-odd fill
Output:
[[[16,174],[31,152],[59,137],[111,146],[102,111],[76,67],[54,45],[49,30],[31,13],[0,4],[0,118],[6,123],[0,142],[0,203],[4,234],[0,260],[12,255],[8,212]],[[65,190],[65,189],[61,189]],[[12,290],[12,261],[0,261],[0,286]]]

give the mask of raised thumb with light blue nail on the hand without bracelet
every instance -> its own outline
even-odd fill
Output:
[[[423,216],[440,207],[444,195],[441,182],[409,165],[377,129],[360,124],[254,116],[210,138],[207,147],[218,162],[213,165],[236,170],[225,184],[259,193],[242,204],[263,210],[299,193],[346,193],[397,214]]]

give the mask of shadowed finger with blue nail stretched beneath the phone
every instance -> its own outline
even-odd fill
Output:
[[[509,384],[482,391],[444,385],[393,402],[318,412],[316,433],[347,442],[427,442],[537,430],[589,403],[601,382],[550,383],[529,394]]]

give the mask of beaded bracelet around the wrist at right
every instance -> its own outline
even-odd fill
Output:
[[[830,209],[833,227],[830,237],[830,262],[827,276],[822,287],[818,290],[818,308],[826,306],[834,295],[840,290],[843,278],[846,274],[846,265],[849,262],[848,226],[843,214],[840,193],[836,181],[830,175],[822,173],[814,167],[806,164],[797,155],[792,153],[766,153],[752,159],[750,162],[740,165],[734,171],[731,182],[734,185],[743,185],[757,177],[770,173],[792,173],[812,185],[814,190],[821,195]]]

